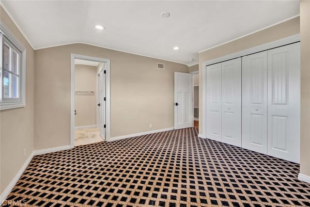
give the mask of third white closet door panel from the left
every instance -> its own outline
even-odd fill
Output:
[[[267,154],[267,51],[242,57],[242,147]]]

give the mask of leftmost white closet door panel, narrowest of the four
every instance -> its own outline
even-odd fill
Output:
[[[221,64],[212,64],[207,70],[207,138],[221,141]]]

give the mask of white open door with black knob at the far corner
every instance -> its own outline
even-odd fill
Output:
[[[174,129],[193,127],[192,74],[174,72]]]

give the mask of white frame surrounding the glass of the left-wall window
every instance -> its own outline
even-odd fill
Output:
[[[19,97],[6,98],[3,96],[3,76],[4,68],[2,64],[3,45],[9,45],[20,52],[20,71],[19,71]],[[26,48],[16,39],[8,28],[0,21],[0,110],[14,109],[26,106]]]

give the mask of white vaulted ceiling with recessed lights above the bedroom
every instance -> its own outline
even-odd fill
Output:
[[[299,15],[298,0],[1,2],[34,49],[81,42],[187,65],[201,50]]]

